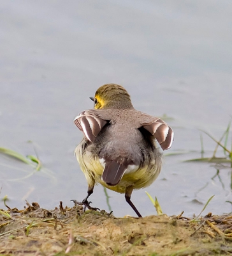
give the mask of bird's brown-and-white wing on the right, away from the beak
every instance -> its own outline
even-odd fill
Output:
[[[154,135],[163,150],[171,147],[174,132],[163,120],[156,118],[153,122],[144,123],[141,126]]]

